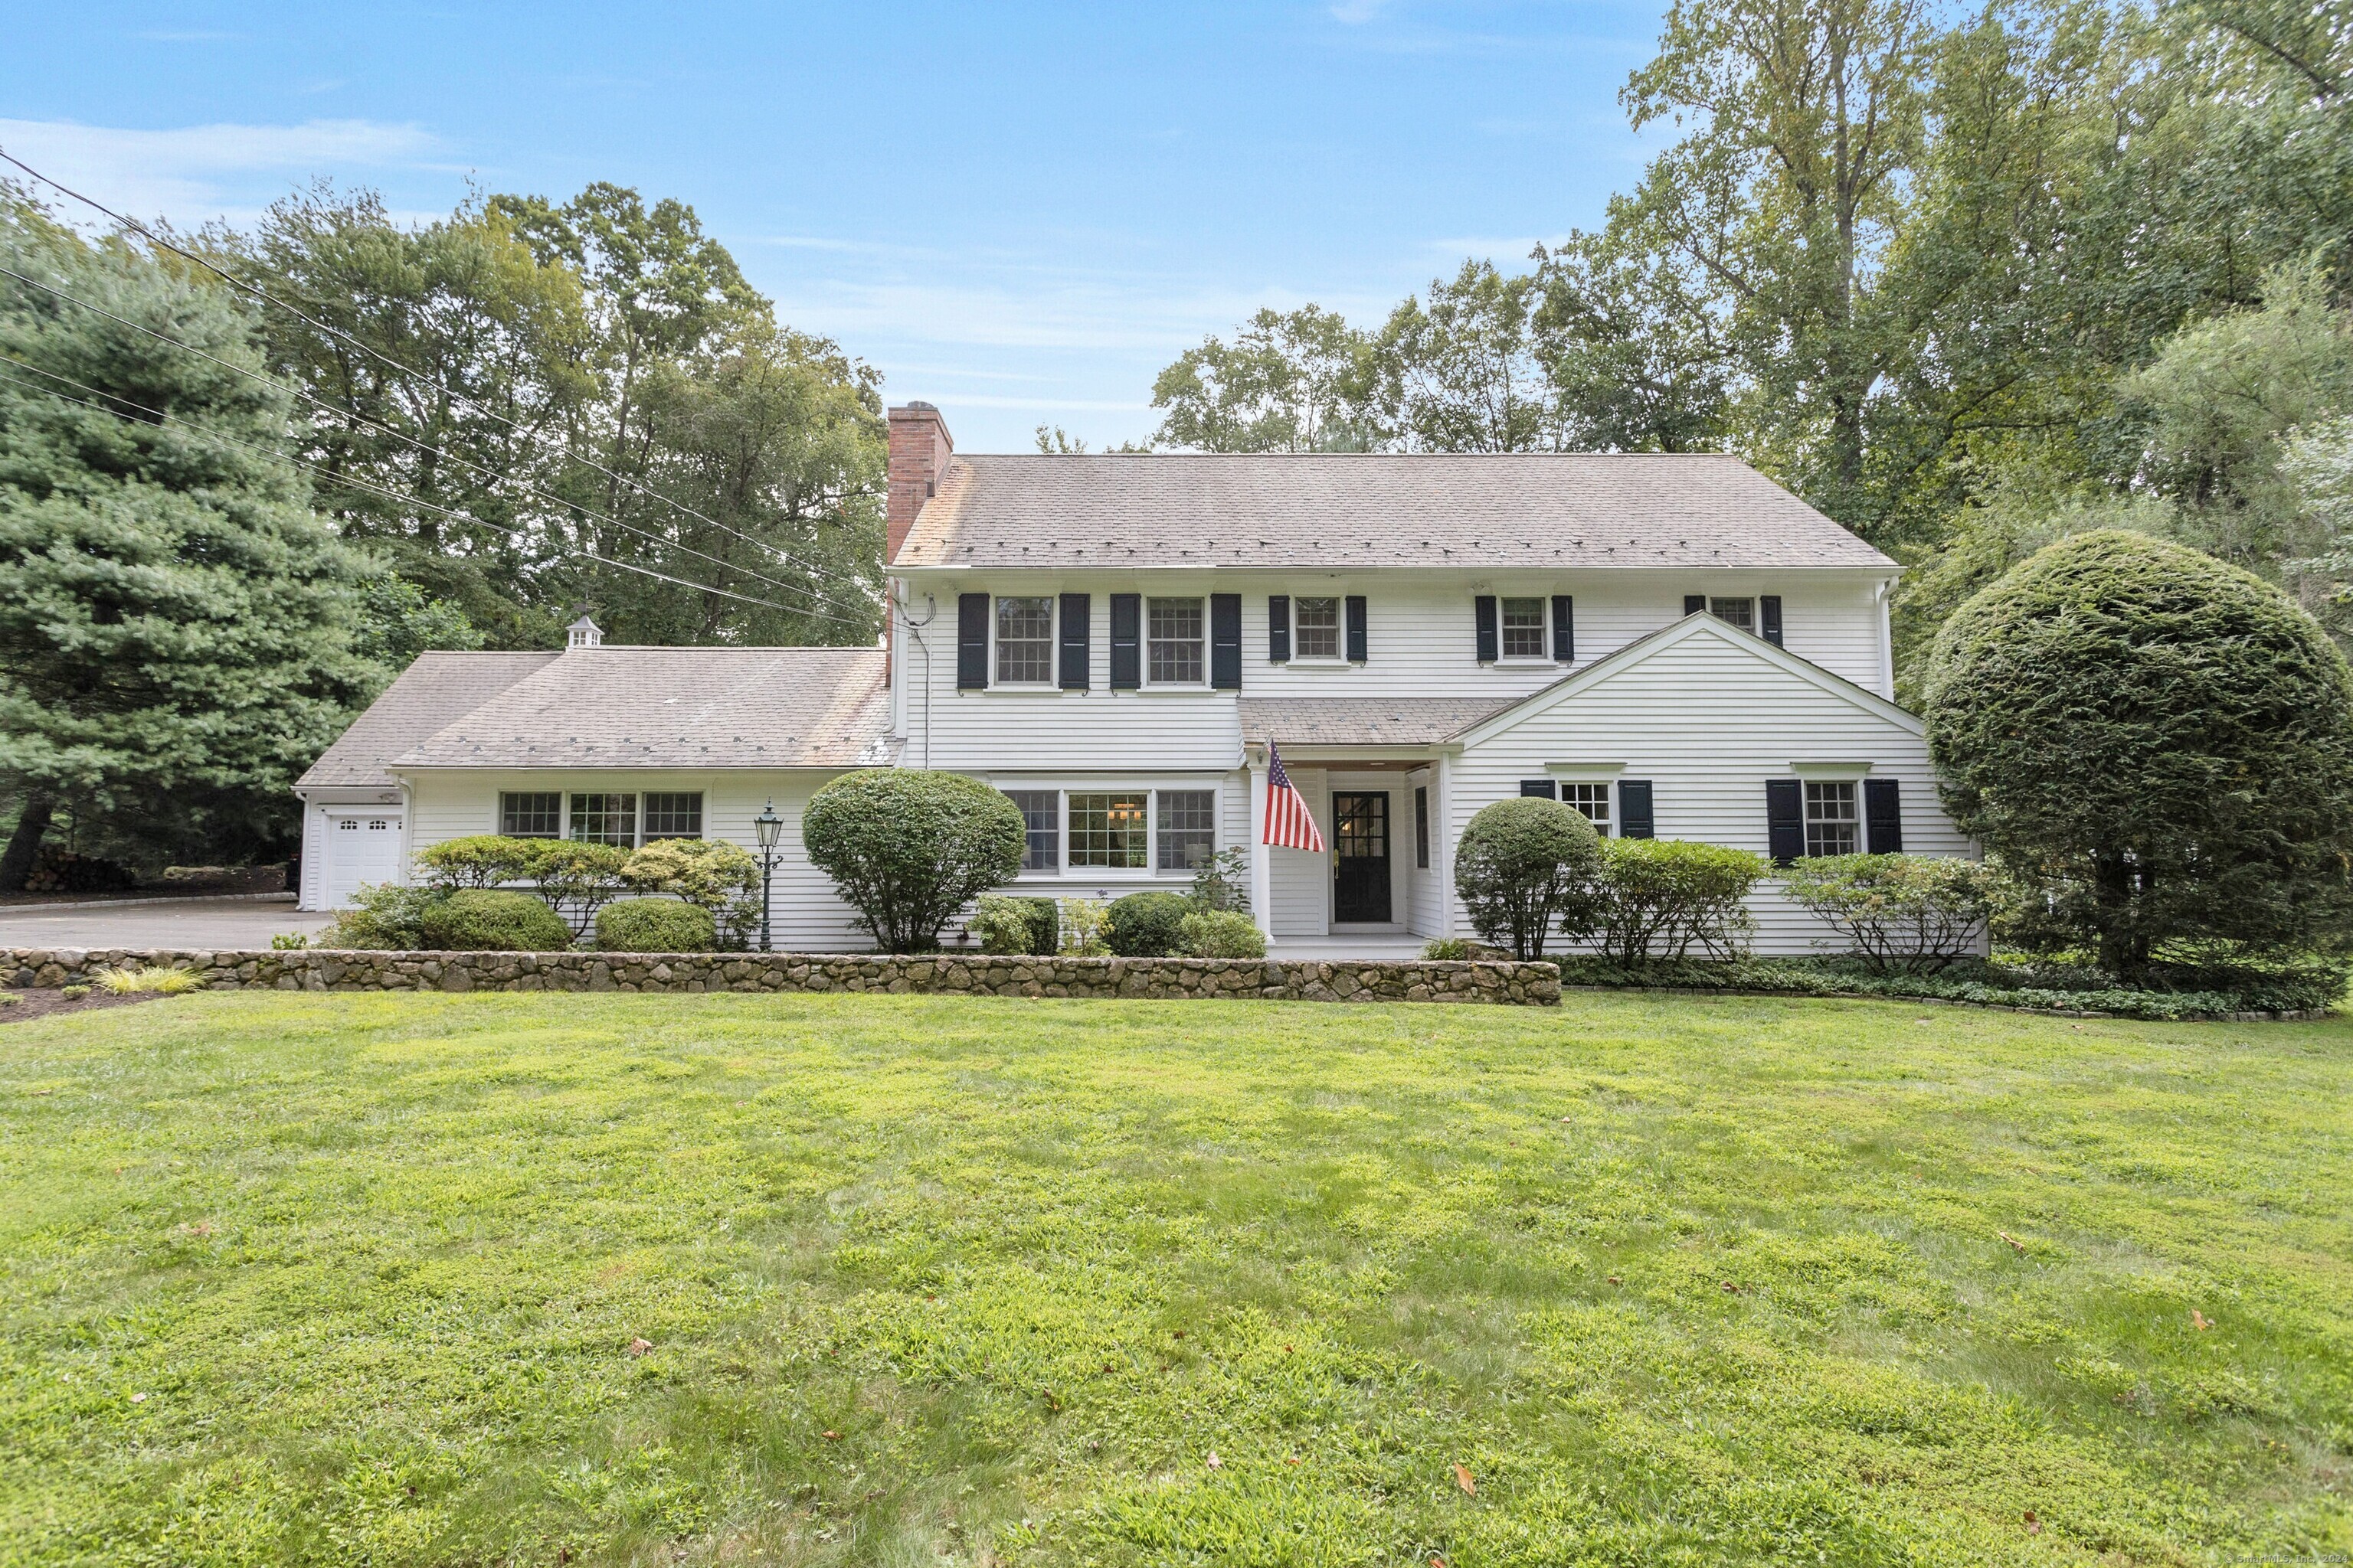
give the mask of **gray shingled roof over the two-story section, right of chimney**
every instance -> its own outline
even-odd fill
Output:
[[[958,456],[894,567],[1882,567],[1732,456]]]

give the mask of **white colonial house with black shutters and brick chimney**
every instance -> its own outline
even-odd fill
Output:
[[[304,776],[304,903],[471,832],[751,844],[774,926],[856,926],[798,844],[854,766],[972,773],[1028,820],[1014,891],[1184,886],[1245,849],[1275,952],[1466,936],[1471,816],[1969,853],[1897,708],[1897,564],[1729,456],[955,454],[889,411],[887,649],[428,654]],[[1322,856],[1264,849],[1268,750]],[[1758,947],[1824,938],[1777,884]]]

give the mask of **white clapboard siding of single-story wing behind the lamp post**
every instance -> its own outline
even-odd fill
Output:
[[[776,842],[776,875],[769,893],[769,940],[779,950],[856,952],[873,945],[856,912],[840,900],[833,882],[809,865],[800,839],[800,813],[833,771],[414,771],[409,773],[409,846],[426,849],[471,832],[499,832],[501,790],[701,790],[704,837],[741,844],[760,853],[753,818],[769,799],[784,818]]]

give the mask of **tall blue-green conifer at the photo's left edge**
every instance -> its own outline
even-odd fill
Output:
[[[384,675],[351,651],[374,567],[275,456],[282,390],[61,299],[259,371],[228,292],[5,193],[0,266],[56,289],[0,277],[0,780],[35,832],[35,804],[165,799],[282,846]]]

